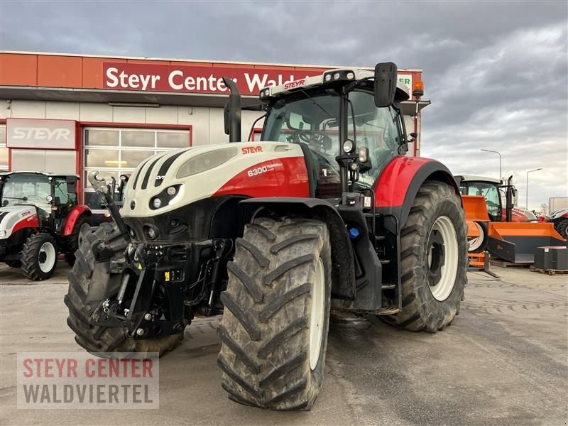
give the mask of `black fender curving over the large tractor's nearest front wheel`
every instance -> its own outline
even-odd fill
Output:
[[[332,297],[354,299],[356,291],[353,247],[345,223],[332,204],[318,198],[249,198],[239,202],[241,226],[244,227],[244,224],[249,223],[263,209],[283,216],[297,215],[325,222],[331,236],[332,264],[334,265]]]

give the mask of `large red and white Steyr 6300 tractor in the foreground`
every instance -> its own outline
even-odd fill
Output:
[[[143,161],[120,211],[89,175],[115,223],[84,233],[67,324],[94,354],[145,356],[222,314],[229,398],[309,410],[332,307],[412,331],[452,323],[467,267],[459,188],[441,163],[404,155],[409,94],[392,62],[262,89],[259,142],[239,142],[241,99],[224,82],[230,143]]]

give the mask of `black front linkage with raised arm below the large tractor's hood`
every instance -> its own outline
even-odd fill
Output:
[[[104,195],[107,208],[127,242],[124,261],[99,239],[92,244],[94,261],[110,261],[109,273],[122,273],[118,290],[89,293],[96,308],[89,322],[103,327],[126,327],[131,339],[152,339],[179,334],[195,313],[222,312],[219,294],[226,288],[222,266],[232,251],[232,241],[210,239],[187,244],[145,244],[131,240],[114,204],[107,183],[96,172],[89,174],[94,189]]]

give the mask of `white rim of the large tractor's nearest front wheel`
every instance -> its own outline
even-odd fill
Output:
[[[325,271],[322,258],[317,259],[315,266],[315,280],[312,286],[312,309],[310,312],[310,369],[317,366],[320,359],[322,339],[324,334],[325,310]]]

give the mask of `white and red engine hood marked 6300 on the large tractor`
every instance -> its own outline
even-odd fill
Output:
[[[302,147],[239,142],[153,155],[129,178],[121,215],[156,216],[220,195],[308,197]]]

